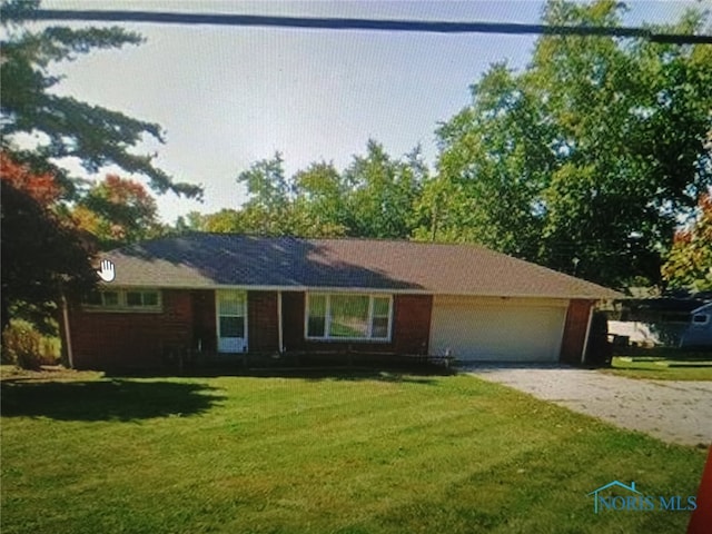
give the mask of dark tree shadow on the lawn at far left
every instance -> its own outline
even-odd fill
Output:
[[[1,385],[3,417],[57,421],[138,421],[185,417],[207,412],[225,397],[204,384],[137,382],[7,382]]]

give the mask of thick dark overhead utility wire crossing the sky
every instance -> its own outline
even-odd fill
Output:
[[[447,22],[423,20],[333,19],[313,17],[268,17],[260,14],[171,13],[161,11],[105,11],[40,9],[29,20],[73,20],[96,22],[156,22],[162,24],[210,24],[320,30],[417,31],[428,33],[506,33],[555,36],[637,37],[673,44],[712,44],[712,36],[659,33],[645,28],[603,26],[544,26],[506,22]]]

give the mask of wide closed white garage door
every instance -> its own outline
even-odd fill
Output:
[[[435,297],[431,354],[469,362],[557,362],[566,301]]]

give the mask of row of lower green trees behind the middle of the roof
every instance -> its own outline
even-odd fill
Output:
[[[413,207],[427,180],[419,148],[390,157],[369,140],[339,172],[317,161],[287,177],[281,155],[255,161],[237,181],[247,190],[239,209],[181,219],[178,231],[237,231],[265,236],[407,238],[416,226]]]

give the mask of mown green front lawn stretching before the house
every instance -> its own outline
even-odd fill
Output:
[[[704,451],[473,376],[8,376],[2,532],[683,532]]]

